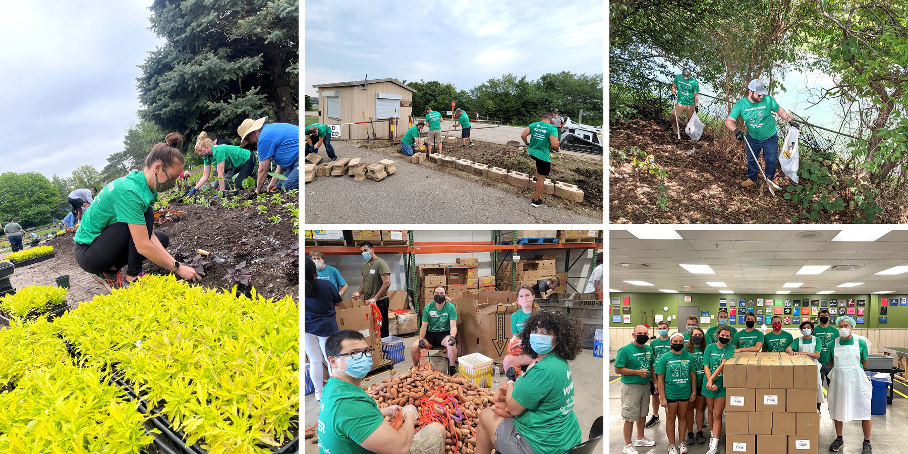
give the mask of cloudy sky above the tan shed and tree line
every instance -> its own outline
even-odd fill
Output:
[[[469,90],[513,73],[601,74],[604,2],[305,2],[305,79],[386,77]]]

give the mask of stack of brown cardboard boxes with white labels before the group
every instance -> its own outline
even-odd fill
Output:
[[[819,368],[787,353],[738,353],[725,362],[725,452],[817,452]]]

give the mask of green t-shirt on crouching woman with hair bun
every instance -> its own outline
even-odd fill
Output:
[[[74,242],[91,244],[108,225],[116,222],[144,225],[145,212],[157,199],[158,193],[148,187],[142,171],[133,171],[107,183],[85,210]]]

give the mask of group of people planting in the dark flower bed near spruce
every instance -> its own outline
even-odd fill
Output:
[[[256,192],[263,192],[272,160],[277,164],[276,173],[284,173],[287,180],[276,183],[277,179],[274,179],[269,189],[276,185],[281,191],[289,191],[299,185],[299,128],[290,123],[265,124],[267,119],[242,122],[237,129],[241,147],[247,143],[257,145],[259,180]],[[74,237],[75,260],[107,291],[121,289],[135,281],[142,273],[146,259],[187,281],[199,281],[204,276],[176,261],[167,252],[170,243],[167,234],[153,230],[154,202],[161,192],[173,189],[183,174],[183,143],[183,134],[168,133],[164,142],[155,144],[145,157],[143,170],[108,183],[101,191],[78,193],[80,190],[77,190],[68,197],[74,211],[84,208]],[[206,133],[200,134],[196,151],[211,158],[210,163],[217,166],[221,178],[229,169],[243,172],[249,168],[251,152],[232,145],[213,144]],[[210,164],[206,162],[205,174],[209,173]],[[224,184],[223,180],[221,182]]]

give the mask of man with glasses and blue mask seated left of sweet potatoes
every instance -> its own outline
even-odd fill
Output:
[[[359,331],[341,330],[325,341],[331,379],[319,402],[319,452],[335,454],[441,454],[448,432],[433,422],[416,432],[419,410],[413,405],[378,403],[360,388],[376,353]],[[380,354],[380,353],[379,353]],[[385,417],[403,412],[403,426],[393,429]]]

